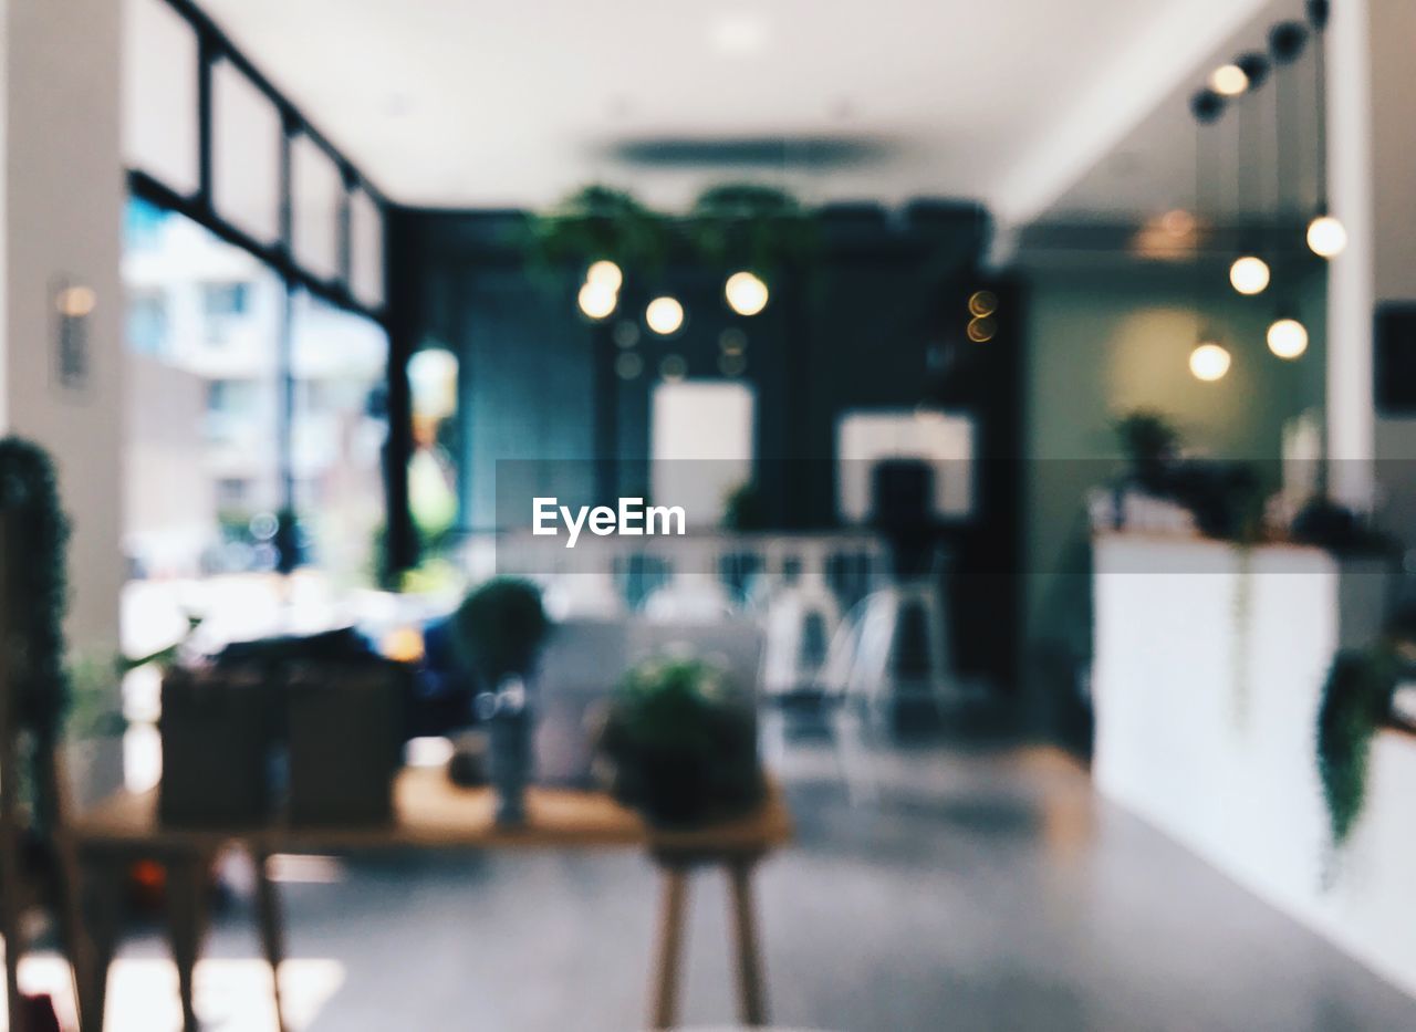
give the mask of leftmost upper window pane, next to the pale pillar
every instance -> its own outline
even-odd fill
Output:
[[[200,187],[197,35],[163,0],[125,4],[123,159],[178,194]]]

